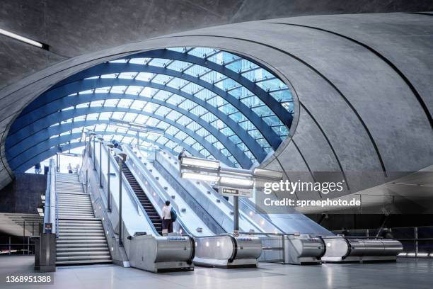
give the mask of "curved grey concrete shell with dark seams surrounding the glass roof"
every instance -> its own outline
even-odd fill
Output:
[[[288,178],[299,170],[311,171],[313,178],[315,171],[340,171],[351,192],[376,186],[390,181],[394,171],[417,171],[433,162],[432,23],[431,16],[409,13],[284,18],[76,57],[0,91],[1,159],[7,168],[4,141],[11,121],[50,86],[94,64],[175,42],[245,55],[296,91],[293,136],[262,166],[282,169]],[[381,175],[360,179],[349,174],[354,171]],[[2,169],[1,184],[10,176]]]

